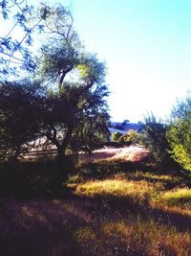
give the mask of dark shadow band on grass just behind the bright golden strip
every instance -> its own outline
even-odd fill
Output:
[[[134,175],[137,172],[148,173],[150,176]],[[130,179],[144,179],[150,182],[162,181],[166,189],[171,189],[177,185],[191,187],[191,175],[189,172],[183,172],[176,163],[171,162],[166,165],[157,165],[149,162],[147,158],[144,161],[99,161],[89,164],[81,164],[75,168],[74,174],[81,175],[85,179],[105,179],[117,174],[126,174]],[[154,177],[152,175],[158,175]],[[159,180],[160,175],[170,175],[172,179]]]

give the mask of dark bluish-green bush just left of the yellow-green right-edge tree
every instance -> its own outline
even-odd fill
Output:
[[[154,159],[159,162],[168,162],[169,144],[166,138],[167,126],[158,122],[156,117],[151,114],[145,118],[142,144],[153,154]]]

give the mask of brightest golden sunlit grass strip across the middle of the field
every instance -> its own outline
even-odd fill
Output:
[[[180,182],[172,175],[155,175],[143,172],[114,175],[103,180],[83,181],[79,176],[71,178],[68,187],[77,196],[88,198],[123,198],[139,204],[149,203],[151,208],[163,208],[165,211],[191,215],[191,189],[172,188],[166,190],[166,184]]]

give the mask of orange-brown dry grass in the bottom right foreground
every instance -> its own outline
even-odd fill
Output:
[[[74,231],[84,255],[190,255],[191,235],[155,221],[103,221]]]

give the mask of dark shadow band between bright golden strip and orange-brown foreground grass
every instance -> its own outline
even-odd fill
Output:
[[[138,216],[145,221],[154,220],[159,224],[165,224],[169,227],[175,226],[179,231],[191,230],[191,215],[171,211],[171,209],[163,209],[157,206],[151,207],[147,198],[140,202],[135,202],[132,198],[117,198],[115,196],[104,194],[104,196],[96,196],[95,198],[85,196],[71,195],[71,199],[76,201],[78,205],[88,202],[90,210],[96,214],[96,221],[110,217],[112,220],[120,217],[125,219],[128,215]]]

